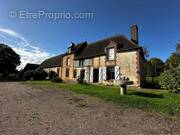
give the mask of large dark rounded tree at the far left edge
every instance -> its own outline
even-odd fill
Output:
[[[0,73],[4,76],[14,73],[20,63],[20,56],[12,48],[0,44]]]

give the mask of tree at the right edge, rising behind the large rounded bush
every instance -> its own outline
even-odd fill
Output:
[[[180,66],[180,43],[176,45],[176,52],[172,53],[166,61],[166,68],[176,68]]]

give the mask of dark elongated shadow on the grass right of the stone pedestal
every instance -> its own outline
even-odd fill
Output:
[[[149,98],[164,98],[163,95],[152,94],[152,93],[143,93],[143,92],[134,92],[129,95],[136,95],[136,96],[149,97]]]

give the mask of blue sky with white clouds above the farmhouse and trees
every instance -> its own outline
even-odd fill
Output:
[[[0,0],[0,43],[20,54],[20,69],[65,52],[71,42],[117,34],[130,39],[130,26],[137,24],[140,45],[165,61],[180,40],[179,5],[179,0]],[[76,18],[76,13],[91,17]]]

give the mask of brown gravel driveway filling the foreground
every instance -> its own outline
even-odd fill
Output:
[[[64,90],[0,83],[0,135],[179,135],[180,118]]]

